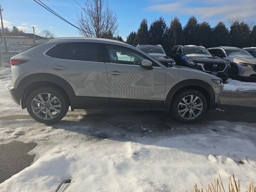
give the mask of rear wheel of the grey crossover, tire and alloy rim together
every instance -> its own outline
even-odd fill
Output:
[[[53,87],[41,87],[32,91],[27,99],[26,107],[30,116],[44,124],[60,121],[68,112],[66,94]]]

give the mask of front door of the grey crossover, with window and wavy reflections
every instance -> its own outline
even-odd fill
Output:
[[[130,48],[105,45],[110,107],[162,108],[166,71],[158,64],[148,70],[140,62],[148,59]]]

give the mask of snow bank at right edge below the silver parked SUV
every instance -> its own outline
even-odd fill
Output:
[[[224,84],[224,91],[256,91],[256,83],[228,79]]]

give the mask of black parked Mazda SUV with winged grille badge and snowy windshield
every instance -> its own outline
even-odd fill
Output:
[[[177,65],[204,71],[218,76],[223,81],[226,81],[231,74],[229,62],[212,56],[210,52],[202,46],[174,46],[168,52],[168,55],[174,59]]]

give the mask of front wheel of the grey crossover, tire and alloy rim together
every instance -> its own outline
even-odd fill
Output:
[[[182,90],[171,104],[172,116],[180,122],[194,122],[204,116],[207,109],[205,96],[197,90]]]

